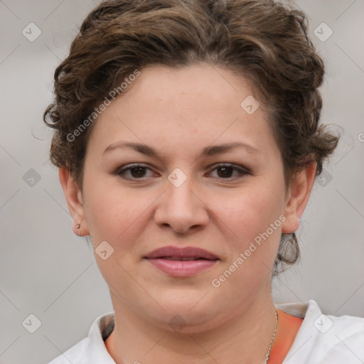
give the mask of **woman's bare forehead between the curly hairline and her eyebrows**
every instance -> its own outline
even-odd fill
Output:
[[[186,148],[245,141],[268,145],[272,133],[262,107],[248,113],[247,102],[259,104],[249,82],[208,64],[141,70],[127,92],[106,107],[96,121],[89,144],[102,154],[119,140]],[[256,101],[255,101],[256,100]],[[248,105],[249,106],[249,105]]]

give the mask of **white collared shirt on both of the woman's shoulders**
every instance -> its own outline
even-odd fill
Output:
[[[276,306],[304,319],[284,364],[364,363],[364,319],[323,315],[314,300]],[[115,364],[102,340],[113,320],[114,312],[97,318],[87,338],[48,364]]]

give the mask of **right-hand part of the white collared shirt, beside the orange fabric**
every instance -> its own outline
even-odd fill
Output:
[[[284,363],[363,363],[363,318],[323,314],[314,300],[277,306],[304,319]]]

